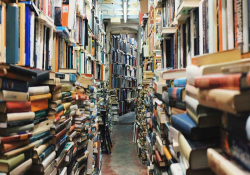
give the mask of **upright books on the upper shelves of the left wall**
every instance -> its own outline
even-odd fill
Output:
[[[1,62],[80,73],[86,73],[80,64],[86,60],[105,64],[105,32],[97,3],[94,8],[83,0],[1,2],[0,8]]]

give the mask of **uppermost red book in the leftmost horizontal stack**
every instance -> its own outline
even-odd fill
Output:
[[[1,113],[29,112],[29,111],[31,111],[31,103],[29,101],[0,103]]]

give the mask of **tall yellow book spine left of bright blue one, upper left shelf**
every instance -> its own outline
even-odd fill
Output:
[[[25,4],[18,3],[17,6],[19,7],[20,11],[20,60],[18,65],[25,65]]]

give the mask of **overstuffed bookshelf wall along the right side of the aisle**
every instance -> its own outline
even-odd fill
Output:
[[[137,143],[139,159],[147,165],[147,173],[222,174],[229,172],[227,168],[223,168],[227,163],[234,168],[240,167],[234,173],[238,171],[243,174],[249,173],[245,162],[232,161],[231,158],[242,160],[237,154],[230,155],[232,150],[235,151],[232,145],[229,149],[225,149],[226,144],[232,144],[231,137],[238,138],[240,142],[243,140],[248,142],[247,138],[237,135],[235,130],[230,130],[226,125],[220,125],[225,119],[240,121],[237,118],[240,113],[236,112],[237,109],[221,107],[226,105],[225,101],[221,101],[225,98],[223,93],[230,91],[230,87],[224,83],[212,86],[215,81],[232,78],[236,73],[248,72],[248,70],[243,71],[243,68],[248,67],[245,64],[249,61],[250,40],[249,22],[247,22],[249,3],[234,0],[163,0],[160,3],[148,0],[147,3],[146,13],[140,14],[142,43],[144,44],[141,56],[143,63],[140,66],[143,67],[142,76],[145,82],[142,84],[147,88],[139,90],[139,94],[145,96],[144,101],[143,98],[138,97],[138,104],[139,106],[145,104],[142,105],[142,109],[138,109],[134,124],[134,142]],[[160,18],[157,18],[157,15]],[[159,48],[155,48],[151,43],[157,42],[158,38],[160,45]],[[159,67],[152,65],[155,51],[158,51],[158,57],[161,58]],[[201,72],[198,73],[199,71]],[[205,81],[212,84],[209,83],[210,85],[204,87],[202,85]],[[208,93],[201,95],[201,91]],[[211,102],[209,102],[211,100],[209,93],[212,91],[220,93],[213,96],[213,105],[208,105]],[[242,95],[246,91],[241,89],[237,93]],[[215,102],[215,99],[221,99],[219,100],[221,103]],[[239,103],[244,104],[243,101]],[[208,119],[206,124],[201,122],[201,111],[199,111],[201,108],[206,111],[203,113]],[[145,113],[142,112],[143,109]],[[249,109],[244,109],[244,111],[249,111]],[[213,118],[211,113],[222,118]],[[245,119],[249,116],[243,115],[242,117],[245,126]],[[192,127],[191,125],[184,126],[186,122],[192,123]],[[231,124],[235,125],[235,123]],[[145,125],[146,131],[143,130]],[[194,135],[188,134],[185,131],[187,128],[196,128],[197,137],[194,138]],[[241,129],[245,132],[244,127]],[[207,130],[209,134],[198,136],[198,133],[204,130]],[[229,135],[230,139],[228,139]],[[215,144],[217,139],[221,141],[221,144],[216,147],[222,151],[206,145],[209,140],[213,140],[212,143]],[[191,145],[196,143],[204,147],[192,148]],[[185,150],[189,148],[191,151],[186,152]],[[197,149],[200,151],[203,149],[204,158],[189,157]],[[228,150],[230,153],[227,152]],[[248,154],[246,150],[243,152]],[[207,163],[203,167],[197,166],[198,164],[192,164],[194,159],[200,163]],[[215,163],[219,160],[220,165]],[[218,167],[220,170],[217,169]]]

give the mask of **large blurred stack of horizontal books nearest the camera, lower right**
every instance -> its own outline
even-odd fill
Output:
[[[250,59],[240,60],[240,51],[234,52],[238,52],[235,61],[218,63],[214,57],[223,57],[223,53],[218,53],[206,58],[210,61],[207,64],[201,62],[204,57],[200,56],[195,58],[200,64],[187,67],[186,102],[190,118],[200,128],[222,126],[220,150],[210,148],[206,152],[206,166],[216,174],[249,174],[250,170]]]

